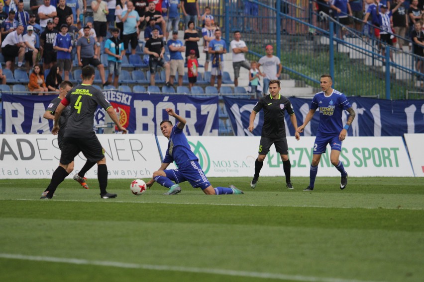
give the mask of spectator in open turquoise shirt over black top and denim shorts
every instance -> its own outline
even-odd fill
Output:
[[[118,88],[118,78],[121,72],[122,57],[125,56],[125,49],[122,40],[119,39],[119,30],[111,28],[110,32],[112,36],[105,42],[105,54],[107,54],[107,67],[109,70],[107,82],[112,82],[113,75],[113,86]]]

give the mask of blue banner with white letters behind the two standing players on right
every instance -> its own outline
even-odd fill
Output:
[[[290,102],[296,113],[298,126],[309,112],[312,98],[303,99],[290,97]],[[381,100],[364,97],[348,97],[349,103],[356,112],[349,136],[402,136],[405,133],[424,133],[424,100]],[[224,96],[224,103],[229,115],[231,126],[236,136],[260,136],[263,124],[263,113],[256,115],[253,134],[247,128],[249,116],[256,104],[256,100],[228,98]],[[343,113],[343,124],[346,123],[348,113]],[[305,136],[315,136],[319,123],[319,113],[305,128]],[[286,134],[294,136],[295,129],[286,115]]]

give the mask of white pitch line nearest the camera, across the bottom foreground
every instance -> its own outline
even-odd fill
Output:
[[[127,269],[178,271],[178,272],[226,275],[226,276],[237,276],[237,277],[248,277],[248,278],[292,280],[292,281],[303,281],[303,282],[373,282],[373,281],[368,281],[368,280],[351,280],[351,279],[342,279],[342,278],[326,278],[326,277],[314,277],[314,276],[302,276],[302,275],[287,275],[287,274],[280,274],[280,273],[249,272],[249,271],[211,269],[211,268],[200,268],[200,267],[179,267],[179,266],[167,266],[167,265],[132,264],[132,263],[122,263],[122,262],[111,262],[111,261],[92,261],[92,260],[73,259],[73,258],[25,256],[25,255],[19,255],[19,254],[2,254],[2,253],[0,253],[0,258],[15,259],[15,260],[26,260],[26,261],[38,261],[38,262],[65,263],[65,264],[75,264],[75,265],[107,266],[107,267],[127,268]]]

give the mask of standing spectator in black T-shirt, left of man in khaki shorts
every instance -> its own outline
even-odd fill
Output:
[[[169,64],[164,60],[165,46],[163,40],[158,38],[159,30],[153,29],[153,37],[146,42],[144,54],[149,56],[150,85],[155,85],[155,72],[157,67],[165,68],[166,86],[174,86],[169,82]]]

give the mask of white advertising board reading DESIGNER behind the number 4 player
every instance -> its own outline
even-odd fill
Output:
[[[147,178],[160,167],[156,138],[152,134],[100,134],[109,178]],[[60,149],[54,135],[1,135],[0,178],[51,178],[59,165]],[[71,178],[86,158],[75,158]],[[97,179],[97,165],[87,178]]]

